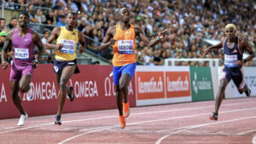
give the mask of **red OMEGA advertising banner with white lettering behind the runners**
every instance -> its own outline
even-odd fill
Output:
[[[74,74],[67,85],[73,85],[74,100],[66,101],[62,112],[84,112],[117,108],[113,77],[110,75],[112,66],[79,66],[80,73]],[[17,118],[20,113],[15,108],[9,87],[9,71],[0,70],[0,119]],[[58,86],[52,65],[39,65],[35,69],[32,83],[32,100],[20,93],[22,105],[29,116],[55,114],[57,112]],[[136,106],[135,80],[132,78],[128,88],[131,107]]]

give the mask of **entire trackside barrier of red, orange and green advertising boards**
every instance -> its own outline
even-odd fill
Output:
[[[73,102],[66,101],[63,112],[84,112],[117,108],[113,88],[112,66],[79,65],[81,73],[73,75]],[[220,67],[203,66],[137,66],[128,88],[131,107],[169,104],[187,101],[209,101],[218,90]],[[244,67],[245,79],[256,96],[256,67]],[[11,100],[9,72],[0,70],[0,119],[18,118],[20,113]],[[55,114],[58,87],[52,65],[39,65],[32,78],[32,100],[20,93],[22,104],[30,116]],[[214,90],[217,89],[217,90]],[[231,82],[225,98],[240,95]],[[117,111],[118,112],[118,111]]]

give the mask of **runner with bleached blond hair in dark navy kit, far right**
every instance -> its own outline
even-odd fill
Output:
[[[243,37],[236,37],[235,25],[229,24],[225,26],[225,35],[226,37],[221,38],[221,43],[213,45],[204,51],[204,54],[207,55],[211,49],[224,48],[224,68],[220,76],[220,85],[216,95],[215,111],[212,116],[210,116],[211,120],[218,120],[218,108],[224,98],[224,90],[226,89],[227,84],[230,83],[231,79],[234,84],[236,84],[236,88],[240,94],[245,92],[247,96],[251,95],[251,90],[247,87],[247,84],[244,83],[242,65],[249,60],[253,60],[253,49]],[[250,55],[246,59],[242,59],[242,55],[245,50]]]

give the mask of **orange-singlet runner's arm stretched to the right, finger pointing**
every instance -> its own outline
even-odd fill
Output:
[[[160,32],[159,35],[158,35],[158,38],[152,39],[151,41],[148,40],[148,37],[146,37],[146,36],[144,35],[143,31],[142,31],[139,27],[135,26],[135,27],[134,27],[134,31],[135,31],[135,33],[136,33],[136,36],[140,37],[141,40],[142,40],[146,45],[148,45],[148,47],[152,47],[152,46],[154,46],[156,43],[159,43],[160,40],[162,40],[162,39],[165,37],[164,34],[165,34],[165,32],[166,32],[167,30],[165,30],[165,31],[163,31],[163,32]]]

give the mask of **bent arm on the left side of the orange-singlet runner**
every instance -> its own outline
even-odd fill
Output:
[[[113,37],[113,30],[115,29],[115,26],[108,27],[108,31],[106,32],[106,36],[103,38],[102,43],[99,47],[99,50],[105,50],[108,49],[109,46],[112,46],[115,43],[114,39],[111,39]]]

